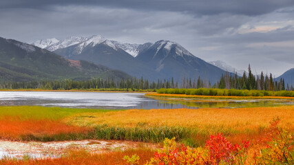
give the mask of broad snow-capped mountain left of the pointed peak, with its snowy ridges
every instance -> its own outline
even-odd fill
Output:
[[[157,73],[145,63],[141,63],[134,58],[136,54],[149,47],[149,45],[151,43],[143,45],[123,44],[117,41],[109,41],[102,36],[96,35],[76,45],[54,50],[54,53],[72,60],[91,61],[96,64],[102,64],[137,78],[143,76],[149,80],[157,80],[157,78],[161,78],[164,75]],[[133,52],[134,56],[127,52]]]

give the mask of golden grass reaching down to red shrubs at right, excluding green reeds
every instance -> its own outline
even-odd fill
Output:
[[[104,124],[122,128],[143,127],[146,131],[157,126],[176,126],[178,130],[187,128],[191,131],[191,135],[187,135],[187,140],[183,139],[186,144],[201,146],[209,135],[216,133],[223,133],[231,142],[238,143],[259,137],[269,121],[277,116],[282,120],[280,126],[294,131],[294,106],[238,109],[131,109],[77,114],[65,118],[64,121],[77,126]]]

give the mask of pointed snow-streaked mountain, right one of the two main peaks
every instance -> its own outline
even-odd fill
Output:
[[[144,61],[156,72],[164,74],[166,78],[174,77],[180,82],[182,77],[198,78],[216,83],[224,70],[213,66],[200,58],[193,56],[178,43],[171,41],[157,41],[136,56]]]

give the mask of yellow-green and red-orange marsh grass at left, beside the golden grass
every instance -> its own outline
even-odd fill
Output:
[[[94,129],[71,126],[61,120],[76,113],[103,113],[108,110],[67,109],[60,107],[0,107],[2,140],[56,141],[94,138]]]

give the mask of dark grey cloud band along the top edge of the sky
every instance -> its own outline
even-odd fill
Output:
[[[108,8],[129,8],[132,10],[176,11],[210,15],[220,13],[258,15],[273,12],[294,5],[292,0],[10,0],[1,1],[1,8],[48,8],[54,5],[90,5]]]

